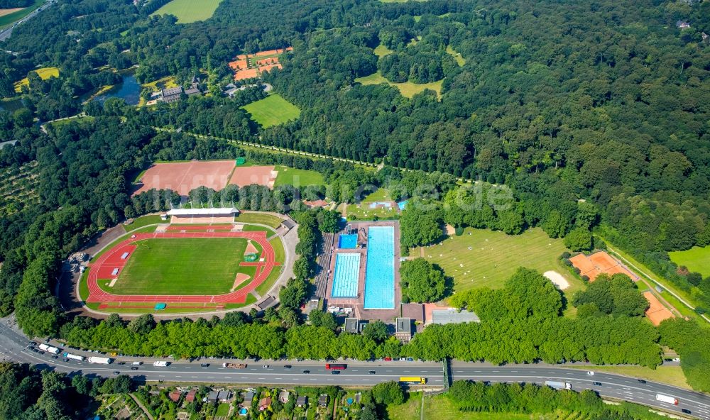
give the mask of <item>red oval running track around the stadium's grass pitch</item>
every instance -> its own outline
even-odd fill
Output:
[[[211,228],[202,226],[203,229]],[[155,238],[245,238],[261,245],[261,258],[263,261],[242,262],[240,265],[256,265],[256,274],[251,282],[241,289],[227,294],[111,294],[104,292],[99,287],[99,274],[111,272],[114,267],[123,267],[126,260],[121,260],[123,253],[133,253],[136,241]],[[129,258],[131,258],[129,256]],[[106,253],[103,253],[89,267],[87,284],[89,286],[89,297],[87,302],[119,303],[119,302],[151,302],[151,303],[222,303],[222,304],[242,304],[246,302],[246,296],[253,289],[256,289],[271,274],[271,270],[280,262],[276,262],[275,254],[271,243],[266,240],[266,232],[154,232],[136,233],[131,238],[126,239],[114,246]],[[105,268],[104,268],[105,266]]]

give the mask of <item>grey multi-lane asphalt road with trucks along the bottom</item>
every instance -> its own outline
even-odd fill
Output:
[[[166,367],[154,367],[153,358],[114,358],[111,365],[94,365],[86,361],[65,361],[60,354],[54,358],[49,353],[40,354],[28,346],[31,342],[13,326],[11,319],[0,321],[0,357],[17,363],[31,363],[43,369],[59,372],[81,372],[84,375],[111,376],[116,372],[131,375],[139,381],[166,381],[192,383],[234,383],[234,384],[270,384],[270,385],[342,385],[367,386],[378,382],[398,380],[402,376],[427,377],[428,387],[443,387],[444,375],[439,363],[423,362],[385,362],[347,363],[346,370],[334,375],[326,370],[323,362],[296,360],[246,360],[244,369],[222,367],[222,359],[202,359],[189,363],[186,361],[170,363]],[[89,356],[92,353],[69,350],[70,353]],[[95,355],[95,354],[94,354]],[[170,361],[170,359],[167,359]],[[134,361],[143,361],[138,370],[131,370]],[[239,362],[234,360],[234,362]],[[123,365],[119,363],[125,363]],[[202,363],[208,364],[202,366]],[[268,367],[265,367],[268,365]],[[290,368],[284,367],[290,365]],[[594,367],[589,367],[594,371]],[[304,371],[307,371],[304,372]],[[371,373],[374,372],[374,373]],[[604,397],[624,399],[629,402],[665,409],[681,414],[682,409],[692,412],[690,416],[710,420],[710,395],[692,392],[687,389],[657,382],[638,382],[633,377],[594,372],[588,375],[586,370],[555,367],[554,365],[506,365],[492,366],[484,363],[456,362],[451,365],[453,380],[470,379],[490,382],[534,382],[542,384],[546,380],[569,382],[572,389],[594,389]],[[599,382],[601,385],[594,385]],[[678,399],[674,406],[659,402],[656,394],[665,394]]]

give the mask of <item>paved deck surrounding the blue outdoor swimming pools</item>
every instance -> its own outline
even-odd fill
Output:
[[[381,319],[382,321],[393,321],[396,317],[400,316],[400,300],[401,300],[401,290],[400,290],[400,228],[398,221],[359,221],[351,222],[354,229],[359,232],[359,243],[367,243],[367,236],[365,233],[361,232],[361,228],[367,229],[370,226],[393,226],[395,228],[394,241],[395,241],[395,281],[394,281],[394,308],[393,309],[364,309],[364,299],[365,299],[365,274],[367,270],[367,246],[364,248],[356,249],[334,249],[331,260],[330,260],[330,272],[328,275],[328,287],[326,291],[326,299],[328,306],[339,306],[343,308],[353,308],[354,316],[360,319]],[[334,243],[337,244],[337,240]],[[358,272],[358,289],[357,297],[344,298],[344,297],[332,297],[333,289],[333,278],[335,275],[335,260],[336,255],[339,253],[359,253],[360,258],[360,268]]]

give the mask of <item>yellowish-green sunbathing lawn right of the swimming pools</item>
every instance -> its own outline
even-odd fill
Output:
[[[558,272],[569,282],[568,297],[582,288],[581,280],[569,274],[559,262],[567,248],[562,239],[552,239],[540,228],[528,229],[520,235],[501,231],[466,228],[461,236],[450,236],[442,243],[413,248],[410,257],[422,257],[438,264],[454,279],[454,290],[461,292],[477,287],[503,287],[518,267],[540,273]]]

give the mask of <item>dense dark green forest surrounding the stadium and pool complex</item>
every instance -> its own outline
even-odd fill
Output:
[[[649,366],[660,363],[660,341],[692,354],[683,366],[689,382],[708,389],[697,377],[710,355],[677,335],[692,327],[674,321],[659,333],[638,317],[643,302],[621,305],[638,290],[611,280],[576,297],[589,316],[568,319],[559,316],[564,302],[549,282],[521,271],[516,278],[528,289],[509,285],[457,295],[460,306],[481,315],[480,325],[430,327],[404,348],[378,336],[338,335],[328,319],[304,326],[297,309],[320,232],[334,229],[333,216],[301,212],[288,189],[219,192],[244,209],[293,211],[302,225],[302,258],[278,311],[195,323],[95,324],[67,319],[51,290],[60,260],[87,238],[175,199],[172,192],[155,193],[162,204],[130,197],[130,180],[151,162],[248,155],[317,170],[335,201],[357,201],[363,191],[386,186],[397,199],[433,204],[404,211],[405,248],[436,241],[444,222],[510,234],[540,226],[551,237],[568,236],[579,249],[589,248],[594,230],[674,282],[704,311],[710,277],[679,271],[667,251],[710,245],[709,2],[224,0],[212,18],[187,25],[150,16],[164,3],[58,0],[1,45],[0,96],[22,102],[12,113],[0,109],[0,141],[18,140],[0,151],[0,167],[37,162],[40,179],[39,203],[0,219],[0,311],[15,309],[27,333],[135,354],[405,354]],[[677,28],[679,20],[690,28]],[[296,121],[263,129],[241,109],[262,99],[261,89],[219,96],[231,82],[227,62],[242,52],[289,45],[293,53],[282,56],[283,70],[265,81],[302,112]],[[378,57],[378,45],[391,52]],[[121,99],[82,102],[82,95],[116,84],[119,70],[134,66],[139,82],[175,76],[184,83],[200,75],[212,96],[138,109]],[[58,67],[59,77],[43,80],[33,71],[38,67]],[[440,80],[442,94],[408,99],[387,84],[355,80],[377,71],[391,82]],[[23,77],[28,84],[16,93],[13,83]],[[33,120],[82,111],[92,118],[45,130]],[[386,166],[374,172],[328,159],[246,153],[226,140],[185,132]],[[461,186],[457,177],[481,182]],[[488,199],[501,192],[509,195],[506,206]],[[315,199],[326,190],[298,193]],[[195,197],[209,194],[217,192],[200,190]],[[418,293],[415,277],[408,282],[410,297],[432,299]],[[611,299],[603,298],[606,290]],[[525,297],[530,291],[535,301]],[[510,347],[495,352],[486,346],[503,333],[516,338]],[[165,336],[194,342],[160,348],[155,343]]]

